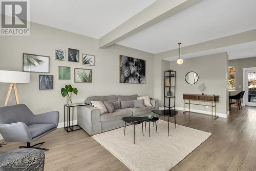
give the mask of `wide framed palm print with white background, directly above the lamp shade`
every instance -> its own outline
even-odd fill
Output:
[[[23,53],[23,71],[49,73],[50,57]]]

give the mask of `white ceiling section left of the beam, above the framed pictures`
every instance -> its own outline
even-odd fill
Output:
[[[30,21],[99,39],[156,0],[31,0]]]

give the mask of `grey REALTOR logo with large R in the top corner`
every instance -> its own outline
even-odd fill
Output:
[[[28,0],[1,1],[0,35],[29,35]]]

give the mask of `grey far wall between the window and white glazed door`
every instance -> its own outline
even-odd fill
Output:
[[[238,59],[238,60],[229,60],[228,66],[236,66],[237,92],[232,92],[231,95],[233,95],[233,94],[239,93],[240,91],[243,91],[243,68],[256,67],[256,57],[244,58],[244,59]],[[239,86],[242,86],[242,87],[239,88]]]

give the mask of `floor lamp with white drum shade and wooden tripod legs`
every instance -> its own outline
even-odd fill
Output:
[[[14,88],[16,103],[19,104],[16,83],[29,83],[29,82],[30,82],[29,72],[0,70],[0,83],[10,83],[4,106],[7,106],[7,103],[12,91],[12,87]]]

